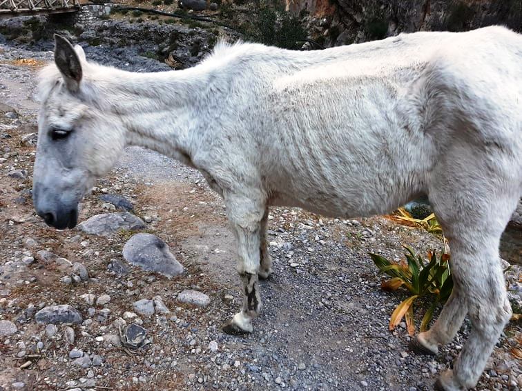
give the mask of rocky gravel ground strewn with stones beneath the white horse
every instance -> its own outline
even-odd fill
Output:
[[[469,322],[436,358],[408,352],[405,325],[388,330],[405,293],[381,290],[368,257],[398,260],[403,244],[440,249],[427,232],[385,217],[274,208],[262,314],[253,334],[231,337],[220,325],[241,303],[232,234],[222,201],[194,170],[128,148],[81,205],[81,221],[110,215],[48,228],[30,199],[35,72],[52,58],[50,43],[39,45],[0,35],[0,390],[432,389]],[[101,63],[165,68],[139,48],[84,45]],[[144,264],[140,246],[153,262]],[[183,271],[144,270],[154,260],[168,262],[164,273]],[[506,277],[520,299],[519,273],[514,265]],[[521,326],[510,323],[477,390],[522,388],[520,343]]]

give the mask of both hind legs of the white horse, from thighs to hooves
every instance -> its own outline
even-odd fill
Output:
[[[465,163],[453,161],[444,167],[438,172],[443,180],[433,183],[429,193],[450,239],[454,292],[432,330],[419,334],[416,345],[436,352],[438,343],[454,337],[466,313],[472,321],[472,332],[453,370],[437,380],[438,390],[476,385],[511,316],[498,249],[519,199],[519,179],[516,170],[494,170],[485,157],[473,160],[467,157]]]

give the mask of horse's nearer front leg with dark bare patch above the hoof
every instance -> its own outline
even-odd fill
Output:
[[[265,207],[249,199],[229,199],[226,206],[238,246],[238,273],[243,285],[242,310],[225,323],[227,334],[244,334],[253,331],[252,320],[261,310],[258,287],[260,248]]]

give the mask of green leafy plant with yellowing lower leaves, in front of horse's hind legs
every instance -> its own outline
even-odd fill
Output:
[[[449,254],[441,254],[437,257],[435,251],[428,252],[428,259],[423,259],[414,253],[412,248],[404,246],[407,250],[406,261],[394,263],[378,254],[369,254],[380,272],[392,279],[383,281],[382,288],[387,291],[395,291],[404,287],[411,293],[403,300],[392,313],[389,320],[389,330],[394,330],[400,321],[405,318],[407,330],[410,335],[415,333],[414,303],[418,299],[424,299],[423,303],[430,303],[423,320],[421,331],[427,330],[429,321],[432,320],[438,303],[445,303],[453,289],[453,279],[450,274]]]

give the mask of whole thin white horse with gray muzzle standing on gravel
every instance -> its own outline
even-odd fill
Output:
[[[436,354],[466,314],[473,330],[436,382],[479,380],[511,315],[499,238],[522,193],[522,37],[501,27],[417,32],[313,52],[220,45],[187,70],[88,63],[56,37],[41,74],[34,204],[55,228],[125,146],[200,170],[222,195],[252,332],[267,278],[269,206],[332,217],[383,214],[428,194],[450,239],[454,290],[412,348]]]

